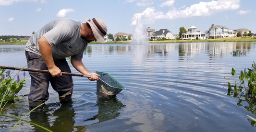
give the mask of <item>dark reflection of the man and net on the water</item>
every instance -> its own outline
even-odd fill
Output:
[[[98,99],[98,114],[84,120],[86,125],[97,124],[104,121],[109,121],[120,116],[119,110],[125,105],[122,104],[116,98],[113,99]],[[57,109],[56,109],[57,108]],[[55,110],[56,109],[56,110]],[[74,132],[74,131],[85,131],[86,125],[84,126],[74,126],[76,113],[73,109],[73,102],[67,103],[52,103],[47,104],[45,110],[42,112],[32,112],[29,115],[31,122],[43,126],[50,131],[59,132],[60,128],[62,132]],[[91,122],[96,123],[91,123]],[[34,132],[42,132],[43,129],[35,126],[32,128]]]

